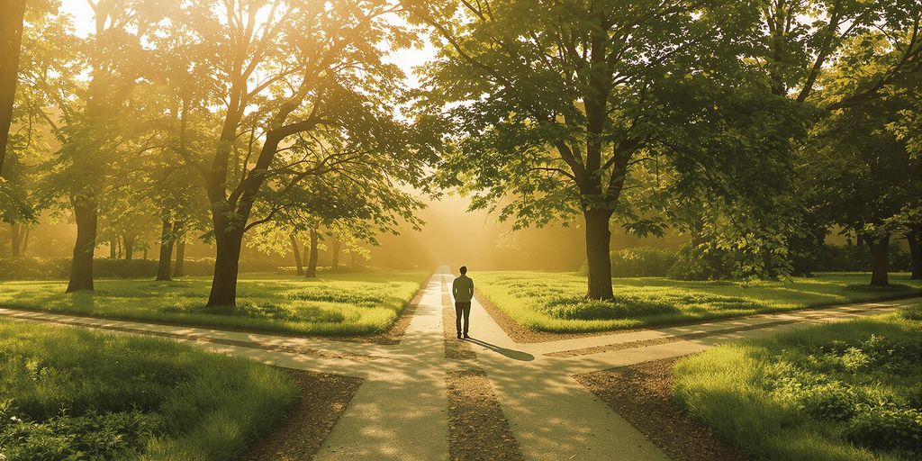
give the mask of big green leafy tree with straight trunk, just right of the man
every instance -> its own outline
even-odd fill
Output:
[[[734,62],[726,45],[754,14],[719,1],[405,5],[441,48],[427,104],[460,134],[442,183],[472,195],[472,208],[502,208],[516,229],[582,215],[586,295],[611,298],[610,221],[632,166],[668,129],[656,87]]]

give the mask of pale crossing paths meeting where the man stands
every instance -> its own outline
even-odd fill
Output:
[[[454,344],[454,313],[448,287],[453,276],[443,266],[421,288],[422,297],[399,344],[363,344],[320,338],[283,337],[201,327],[151,325],[109,319],[0,309],[0,316],[33,322],[76,325],[161,337],[219,353],[230,353],[281,367],[362,378],[356,395],[338,420],[318,460],[448,459],[457,431],[471,431],[450,386],[474,380],[475,395],[498,403],[499,419],[483,431],[511,433],[512,458],[534,460],[668,459],[644,435],[600,401],[574,375],[668,359],[717,344],[772,335],[796,325],[818,324],[889,313],[919,298],[877,301],[833,308],[763,314],[695,325],[516,343],[474,301],[471,339]],[[447,335],[445,330],[447,328]],[[448,339],[446,339],[448,338]],[[460,347],[461,349],[458,349]],[[458,353],[460,350],[460,353]],[[489,403],[489,402],[488,402]],[[496,407],[495,405],[493,407]],[[489,413],[489,412],[488,412]],[[473,428],[478,431],[478,428]],[[464,435],[469,435],[465,432]],[[495,435],[495,434],[487,434]],[[476,443],[476,441],[471,441]],[[489,448],[489,447],[487,447]],[[484,454],[484,458],[491,455]]]

